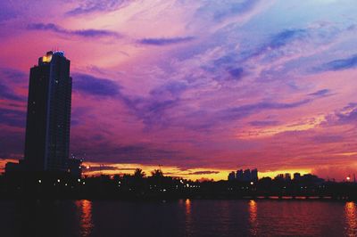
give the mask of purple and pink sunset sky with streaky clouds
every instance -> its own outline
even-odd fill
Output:
[[[0,1],[0,159],[29,68],[71,60],[71,152],[98,172],[357,173],[355,0]]]

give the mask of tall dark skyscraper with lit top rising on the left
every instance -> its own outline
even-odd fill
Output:
[[[30,171],[68,168],[71,127],[70,61],[47,52],[29,73],[25,166]]]

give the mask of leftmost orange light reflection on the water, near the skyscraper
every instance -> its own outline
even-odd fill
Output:
[[[92,201],[77,200],[76,206],[79,209],[79,231],[80,236],[90,236],[94,227],[92,221]]]

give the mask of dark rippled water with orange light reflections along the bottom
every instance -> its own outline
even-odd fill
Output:
[[[0,236],[357,236],[354,202],[0,201]]]

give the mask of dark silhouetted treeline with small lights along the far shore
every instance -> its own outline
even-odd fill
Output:
[[[164,176],[156,169],[149,176],[137,168],[133,175],[73,177],[66,173],[11,174],[0,176],[3,199],[244,199],[317,197],[357,200],[357,184],[325,182],[309,176],[302,180],[257,182],[191,181]]]

